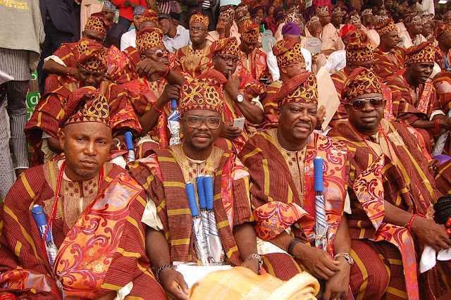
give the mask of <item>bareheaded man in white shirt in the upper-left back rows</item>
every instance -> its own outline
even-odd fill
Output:
[[[159,23],[163,31],[163,44],[169,52],[175,53],[178,49],[190,44],[190,30],[175,27],[171,15],[162,13],[159,16]]]

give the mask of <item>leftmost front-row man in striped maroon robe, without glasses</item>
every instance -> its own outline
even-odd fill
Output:
[[[144,190],[123,168],[106,163],[113,121],[108,100],[94,87],[82,87],[63,107],[58,137],[65,157],[26,170],[0,205],[1,294],[165,298],[142,239]],[[36,205],[51,223],[56,257],[46,255],[30,211]]]

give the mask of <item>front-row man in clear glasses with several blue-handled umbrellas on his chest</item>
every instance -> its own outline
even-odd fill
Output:
[[[183,275],[173,269],[174,261],[242,265],[254,273],[259,273],[262,264],[252,226],[249,173],[235,154],[214,146],[221,132],[226,82],[216,70],[187,80],[180,89],[183,142],[156,149],[147,158],[128,164],[130,174],[147,194],[142,216],[148,226],[147,255],[157,280],[174,299],[187,299],[188,293]],[[197,210],[201,205],[199,176],[213,177],[208,187],[214,194],[211,212],[216,222],[210,223],[210,230],[214,227],[218,232],[218,244],[204,255],[193,241],[192,208]],[[193,194],[187,194],[188,182],[194,184]],[[204,260],[206,256],[208,260]]]

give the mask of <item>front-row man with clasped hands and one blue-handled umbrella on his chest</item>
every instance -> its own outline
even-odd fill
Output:
[[[292,77],[274,100],[278,104],[278,128],[254,135],[239,154],[252,178],[251,201],[264,268],[282,280],[307,270],[323,280],[323,286],[326,281],[323,299],[347,299],[353,263],[343,215],[347,148],[313,132],[318,105],[313,73]],[[314,246],[316,156],[324,159],[323,180],[328,187],[324,205],[329,238],[324,249]]]

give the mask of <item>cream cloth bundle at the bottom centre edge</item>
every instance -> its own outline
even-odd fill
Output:
[[[284,282],[268,273],[257,275],[244,267],[210,273],[190,289],[190,299],[314,300],[319,282],[307,272]]]

